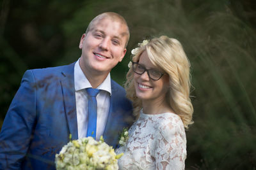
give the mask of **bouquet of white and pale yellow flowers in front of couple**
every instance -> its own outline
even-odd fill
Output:
[[[56,169],[118,169],[117,159],[121,156],[102,137],[100,141],[81,138],[70,141],[56,154]]]

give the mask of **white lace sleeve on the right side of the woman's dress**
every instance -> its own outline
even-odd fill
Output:
[[[156,138],[156,169],[184,169],[186,134],[179,116],[172,114],[161,122]]]

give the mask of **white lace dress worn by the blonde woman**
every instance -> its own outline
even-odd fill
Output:
[[[146,115],[129,129],[126,145],[116,149],[124,153],[119,169],[184,169],[186,134],[180,117],[174,113]]]

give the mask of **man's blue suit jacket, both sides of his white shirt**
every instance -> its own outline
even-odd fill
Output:
[[[125,90],[111,80],[103,138],[116,147],[118,132],[132,124]],[[24,73],[0,133],[0,169],[55,169],[55,154],[77,139],[74,63]]]

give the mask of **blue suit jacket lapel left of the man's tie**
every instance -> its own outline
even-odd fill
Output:
[[[77,139],[76,95],[74,85],[74,63],[68,65],[61,72],[61,88],[63,92],[63,104],[68,122],[68,129],[72,139]]]

